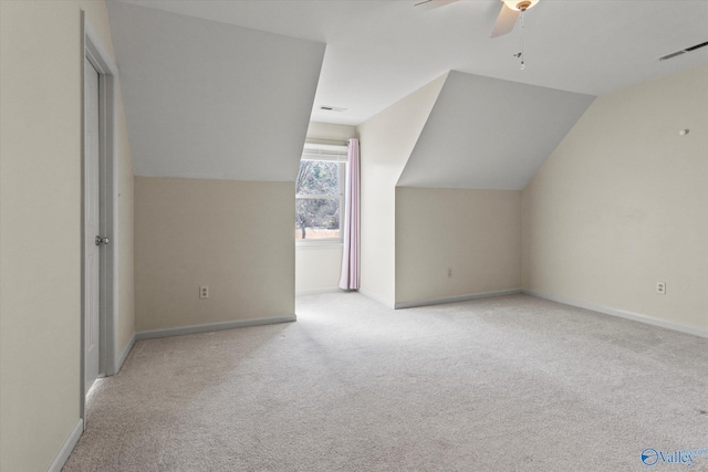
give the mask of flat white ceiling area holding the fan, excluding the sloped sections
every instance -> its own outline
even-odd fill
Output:
[[[312,119],[327,123],[360,124],[449,70],[602,95],[708,62],[708,48],[657,61],[708,41],[706,0],[541,0],[525,15],[523,71],[518,27],[489,38],[499,0],[108,1],[326,43]]]

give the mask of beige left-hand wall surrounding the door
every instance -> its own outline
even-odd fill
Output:
[[[0,1],[2,471],[45,471],[80,421],[80,9],[112,53],[103,1]],[[128,167],[122,117],[118,127]],[[132,196],[119,187],[126,241]],[[132,284],[122,269],[122,290]],[[126,332],[129,296],[119,308]]]

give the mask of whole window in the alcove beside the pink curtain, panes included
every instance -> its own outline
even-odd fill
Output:
[[[295,181],[295,240],[341,242],[346,146],[305,145]]]

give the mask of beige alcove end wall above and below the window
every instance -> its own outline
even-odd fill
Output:
[[[344,144],[356,127],[311,122],[308,143]],[[342,271],[342,244],[295,245],[295,293],[334,291]]]

